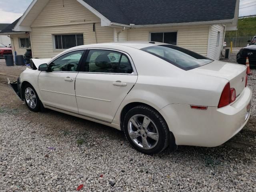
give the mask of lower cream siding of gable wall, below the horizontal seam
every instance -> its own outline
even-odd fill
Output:
[[[37,58],[52,58],[63,51],[62,49],[54,49],[54,34],[81,33],[84,35],[84,44],[114,41],[113,28],[102,27],[100,23],[96,23],[96,33],[93,32],[93,24],[34,27],[30,33],[33,56]]]

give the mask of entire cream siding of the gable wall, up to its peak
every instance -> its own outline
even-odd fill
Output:
[[[96,32],[93,31],[93,23]],[[32,51],[37,58],[52,58],[62,52],[55,49],[54,34],[83,34],[84,44],[113,42],[113,28],[102,27],[100,18],[76,0],[49,0],[31,25]]]

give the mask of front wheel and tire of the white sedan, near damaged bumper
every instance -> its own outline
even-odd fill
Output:
[[[40,111],[40,100],[32,85],[26,84],[23,88],[23,98],[31,111]]]

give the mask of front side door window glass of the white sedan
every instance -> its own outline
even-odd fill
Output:
[[[50,71],[77,71],[78,63],[82,57],[84,50],[73,51],[64,54],[51,62],[48,66]]]

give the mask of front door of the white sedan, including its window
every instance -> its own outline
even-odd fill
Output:
[[[78,113],[75,80],[84,50],[63,54],[38,76],[41,100],[46,106]]]

